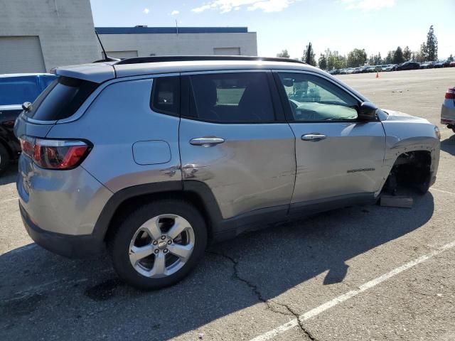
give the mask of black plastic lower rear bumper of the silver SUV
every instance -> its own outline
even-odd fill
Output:
[[[36,244],[48,251],[69,258],[85,258],[100,254],[105,249],[102,239],[97,239],[90,234],[74,236],[45,231],[33,223],[21,202],[19,202],[19,209],[28,235]]]

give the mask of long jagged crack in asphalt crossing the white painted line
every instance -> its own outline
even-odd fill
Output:
[[[207,251],[207,253],[208,254],[214,254],[215,256],[223,257],[224,259],[228,259],[232,263],[232,269],[234,271],[233,274],[232,274],[232,278],[233,279],[235,279],[237,281],[240,281],[242,283],[245,283],[252,290],[252,292],[255,294],[255,296],[257,296],[257,299],[259,301],[261,301],[262,303],[265,303],[265,305],[267,305],[267,309],[271,310],[273,313],[286,315],[286,316],[293,316],[294,318],[296,318],[297,323],[299,324],[299,328],[301,329],[302,332],[304,332],[306,337],[308,337],[309,340],[311,340],[311,341],[319,341],[319,339],[317,339],[309,330],[307,330],[305,328],[304,323],[301,321],[301,319],[299,317],[299,313],[296,313],[294,310],[292,310],[288,305],[286,305],[284,303],[279,303],[277,301],[267,300],[266,298],[264,298],[262,296],[262,293],[259,291],[259,288],[257,288],[257,285],[251,283],[250,281],[247,281],[247,279],[245,279],[245,278],[240,277],[239,271],[237,269],[237,266],[239,264],[238,261],[236,261],[234,258],[232,258],[231,256],[229,256],[228,254],[225,254],[225,253],[221,253],[220,254],[220,253],[215,252],[215,251]],[[279,305],[279,306],[285,308],[289,313],[283,313],[282,311],[277,310],[276,308],[274,308],[272,306],[271,303],[273,303],[275,305]]]

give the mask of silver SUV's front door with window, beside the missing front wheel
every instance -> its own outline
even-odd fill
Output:
[[[275,76],[296,136],[292,203],[377,191],[385,153],[381,122],[359,121],[358,99],[326,77],[309,72]]]

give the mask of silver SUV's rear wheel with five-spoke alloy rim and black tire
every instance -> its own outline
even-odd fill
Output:
[[[177,226],[186,229],[175,236]],[[207,246],[207,227],[190,203],[156,200],[124,217],[107,245],[123,281],[155,290],[178,283],[198,264]]]

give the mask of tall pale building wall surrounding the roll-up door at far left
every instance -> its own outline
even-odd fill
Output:
[[[0,0],[0,36],[38,36],[46,71],[100,59],[90,0]]]

